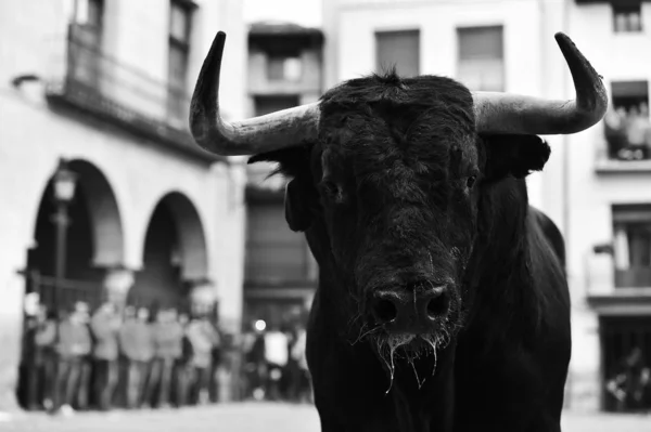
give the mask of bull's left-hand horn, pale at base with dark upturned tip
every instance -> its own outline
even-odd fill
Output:
[[[222,156],[253,155],[314,140],[318,103],[228,122],[219,116],[219,71],[226,34],[217,32],[204,60],[190,105],[190,131],[204,149]]]

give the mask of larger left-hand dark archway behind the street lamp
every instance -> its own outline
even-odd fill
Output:
[[[58,230],[53,219],[56,206],[50,179],[36,215],[34,246],[27,251],[26,292],[37,293],[39,301],[54,316],[55,305],[60,313],[69,310],[76,301],[97,306],[102,299],[106,267],[122,264],[124,257],[123,225],[108,181],[95,166],[85,160],[69,161],[67,168],[77,175],[77,186],[67,207],[66,241],[62,243],[66,247],[58,248],[56,245]],[[65,257],[63,279],[55,280],[56,253],[62,252]],[[35,374],[35,364],[30,363],[35,357],[35,317],[29,315],[34,312],[25,313],[23,358],[16,388],[23,407],[38,406],[39,385],[42,385],[37,378],[39,375]]]

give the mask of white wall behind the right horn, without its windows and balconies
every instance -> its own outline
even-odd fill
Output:
[[[644,28],[651,3],[642,2]],[[333,0],[323,2],[326,84],[373,71],[374,31],[421,30],[421,74],[455,77],[459,26],[505,26],[506,90],[570,99],[575,91],[553,35],[567,34],[592,66],[613,80],[651,81],[651,32],[614,34],[609,3],[576,5],[573,0]],[[604,148],[602,126],[575,135],[546,136],[552,155],[544,173],[529,176],[529,197],[565,235],[573,297],[571,406],[598,408],[598,322],[587,306],[586,259],[593,245],[612,238],[612,204],[651,202],[651,170],[597,174]],[[608,272],[603,273],[608,274]],[[603,278],[602,274],[602,278]],[[596,275],[593,275],[596,277]],[[592,278],[595,279],[595,278]],[[613,282],[595,282],[600,286]]]

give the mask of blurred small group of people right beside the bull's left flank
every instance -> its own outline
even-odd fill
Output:
[[[243,336],[245,398],[312,402],[306,330],[301,323],[266,328],[266,323],[258,320]]]

